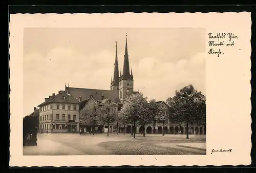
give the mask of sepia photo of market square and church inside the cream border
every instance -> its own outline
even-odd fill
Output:
[[[206,155],[205,35],[24,28],[23,155]]]

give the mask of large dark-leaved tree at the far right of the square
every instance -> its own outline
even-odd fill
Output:
[[[186,123],[186,139],[188,139],[188,124],[205,123],[206,98],[189,84],[176,91],[173,98],[169,97],[167,104],[170,107],[169,117],[176,123]]]

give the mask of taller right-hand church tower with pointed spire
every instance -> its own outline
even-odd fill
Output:
[[[124,52],[124,61],[123,61],[123,74],[120,73],[119,77],[119,99],[121,103],[125,100],[126,97],[130,96],[133,93],[133,71],[130,73],[129,66],[129,55],[127,50],[127,34],[125,38],[125,52]]]

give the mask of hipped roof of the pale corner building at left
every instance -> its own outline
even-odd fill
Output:
[[[65,92],[60,92],[59,94],[55,95],[55,97],[53,97],[51,100],[49,99],[48,101],[45,101],[41,104],[39,104],[38,106],[42,106],[45,104],[49,104],[49,103],[73,103],[73,104],[78,104],[79,101],[77,101],[74,97],[66,94]]]

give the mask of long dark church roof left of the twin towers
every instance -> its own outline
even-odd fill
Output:
[[[102,100],[101,96],[103,95],[104,98],[110,99],[111,101],[117,103],[120,102],[119,100],[119,93],[118,91],[113,90],[98,90],[98,89],[83,89],[83,88],[69,88],[70,94],[76,100],[79,100],[79,97],[83,99],[90,98],[91,95],[95,101]]]

